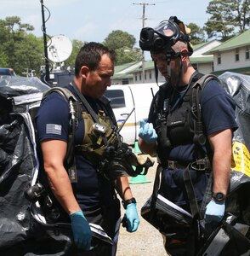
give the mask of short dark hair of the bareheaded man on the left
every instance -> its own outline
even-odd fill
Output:
[[[116,61],[116,54],[114,50],[110,50],[103,44],[90,42],[84,44],[80,49],[75,62],[75,75],[78,76],[82,66],[87,66],[90,71],[94,71],[101,60],[102,55],[109,55],[111,61]]]

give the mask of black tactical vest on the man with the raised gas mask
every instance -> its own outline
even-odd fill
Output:
[[[210,74],[194,73],[190,84],[176,101],[173,101],[176,92],[170,84],[160,87],[153,109],[160,159],[164,160],[166,150],[190,143],[195,143],[199,158],[205,156],[202,146],[209,145],[202,126],[200,91],[210,79],[217,78]]]

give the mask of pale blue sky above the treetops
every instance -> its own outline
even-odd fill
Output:
[[[42,0],[0,0],[0,19],[18,16],[21,23],[35,27],[32,32],[42,37]],[[206,14],[211,0],[43,0],[46,32],[51,37],[65,37],[87,42],[102,43],[114,30],[128,32],[136,38],[139,47],[139,32],[143,26],[143,3],[145,4],[145,26],[154,27],[170,16],[177,16],[185,24],[190,22],[204,26],[209,18]],[[1,36],[1,35],[0,35]]]

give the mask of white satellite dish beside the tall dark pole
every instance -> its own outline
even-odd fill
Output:
[[[72,43],[64,35],[57,35],[48,40],[48,59],[53,62],[65,61],[72,51]]]

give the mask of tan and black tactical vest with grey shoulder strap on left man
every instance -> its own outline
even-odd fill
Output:
[[[80,150],[87,160],[91,161],[94,166],[98,166],[99,162],[106,156],[106,149],[110,146],[115,148],[120,143],[121,138],[119,133],[116,132],[116,118],[107,98],[103,96],[99,100],[100,108],[103,108],[103,110],[100,110],[97,114],[91,114],[89,113],[91,111],[83,106],[82,102],[67,88],[54,87],[46,91],[43,98],[54,91],[68,102],[70,108],[71,118],[65,167],[68,170],[71,183],[74,183],[77,182],[74,151],[79,152]],[[94,120],[93,115],[96,115],[98,120]],[[74,133],[81,116],[85,132],[82,145],[75,145]]]

